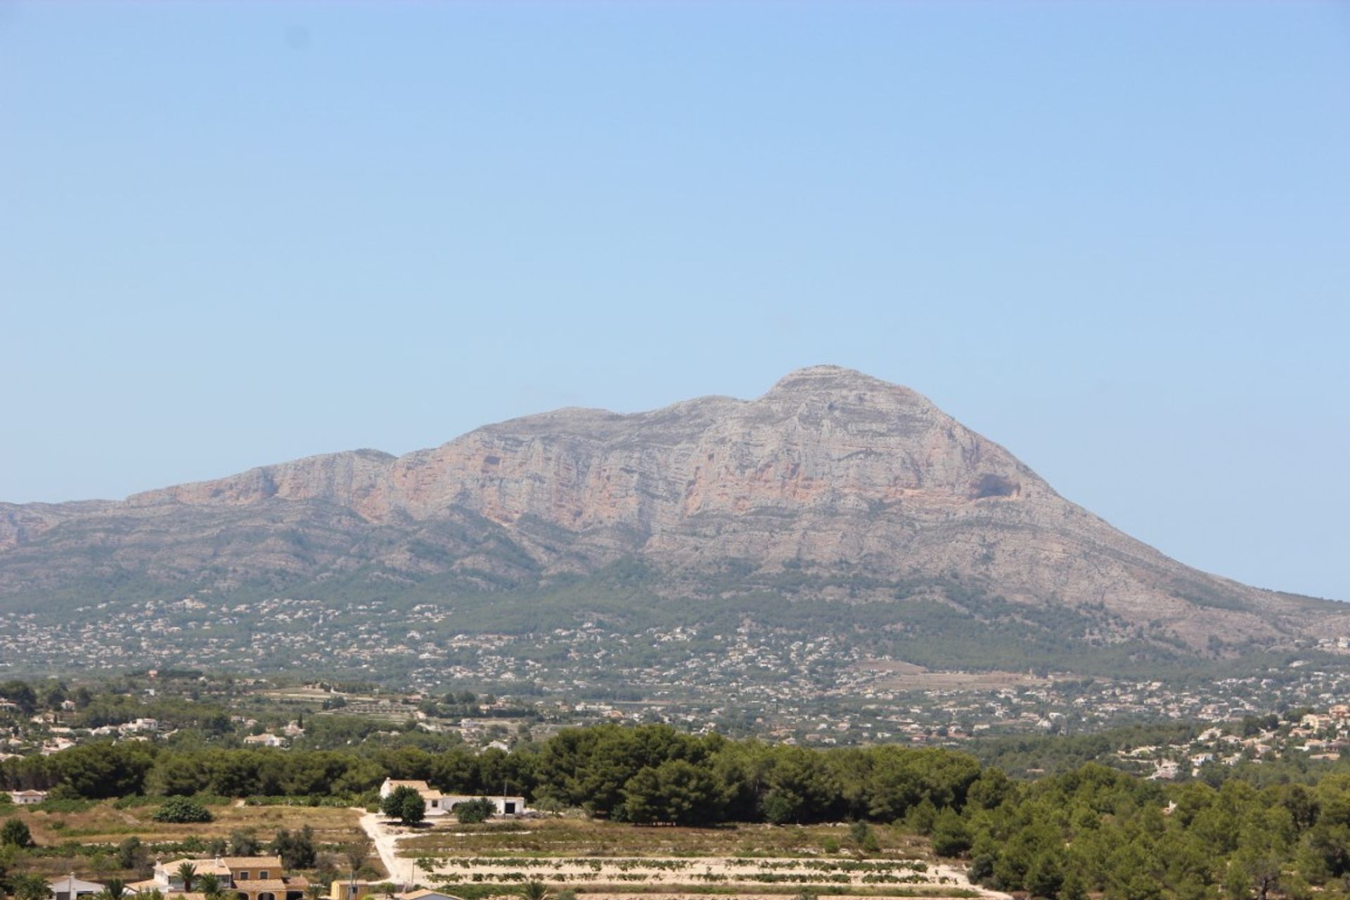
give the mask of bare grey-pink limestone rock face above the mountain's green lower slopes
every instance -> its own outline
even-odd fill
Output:
[[[1282,638],[1311,615],[1162,556],[919,394],[832,366],[753,401],[564,409],[401,457],[356,451],[122,503],[0,506],[0,596],[126,572],[184,588],[370,565],[528,580],[628,555],[667,572],[674,594],[728,560],[886,584],[954,578],[1162,622],[1196,645]]]

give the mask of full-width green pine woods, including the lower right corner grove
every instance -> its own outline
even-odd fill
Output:
[[[1091,750],[1085,746],[1084,750]],[[1034,897],[1303,900],[1350,889],[1350,775],[1282,764],[1218,768],[1164,785],[1098,764],[1015,781],[942,749],[809,750],[668,726],[564,730],[512,753],[463,748],[171,749],[90,743],[7,760],[5,787],[70,796],[373,799],[385,777],[455,793],[524,793],[634,823],[898,823],[972,877]]]

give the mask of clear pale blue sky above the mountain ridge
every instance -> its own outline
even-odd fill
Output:
[[[907,385],[1350,600],[1350,4],[0,0],[0,499]]]

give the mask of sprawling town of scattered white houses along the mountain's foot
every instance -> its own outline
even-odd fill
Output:
[[[725,631],[672,626],[636,636],[597,622],[540,634],[475,634],[454,631],[454,613],[435,604],[400,611],[378,602],[333,609],[294,599],[220,609],[188,598],[146,603],[134,613],[89,613],[66,621],[0,613],[0,673],[63,671],[72,665],[72,648],[80,649],[81,671],[108,675],[189,661],[202,672],[266,681],[269,671],[302,677],[342,668],[347,677],[385,690],[383,707],[331,698],[352,703],[348,714],[408,718],[416,710],[389,704],[389,698],[467,688],[495,695],[497,712],[529,710],[528,718],[548,723],[668,722],[694,731],[826,746],[953,742],[980,733],[1081,733],[1133,722],[1223,722],[1278,708],[1326,707],[1350,694],[1343,638],[1324,638],[1308,648],[1308,660],[1289,658],[1260,675],[1173,683],[1050,671],[930,672],[868,656],[856,642],[830,634],[749,622]],[[252,636],[263,627],[267,640],[259,642]],[[624,673],[621,681],[614,672]],[[473,725],[474,715],[459,718],[468,723],[431,716],[424,727],[460,733],[471,742],[486,733]],[[55,729],[46,735],[47,752],[72,739],[59,722],[47,725]],[[100,729],[94,737],[150,734],[155,723]],[[250,742],[284,746],[293,737],[269,731],[251,734]],[[501,737],[494,733],[483,742]]]

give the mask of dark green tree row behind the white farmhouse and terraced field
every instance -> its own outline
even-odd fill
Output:
[[[883,746],[814,752],[693,737],[668,726],[568,729],[512,753],[464,748],[364,753],[173,749],[94,742],[53,756],[7,760],[7,788],[57,796],[135,793],[359,796],[386,779],[418,779],[455,793],[521,793],[536,806],[582,807],[629,822],[888,822],[929,800],[960,808],[981,777],[969,756]]]

